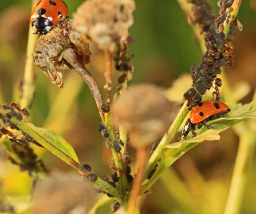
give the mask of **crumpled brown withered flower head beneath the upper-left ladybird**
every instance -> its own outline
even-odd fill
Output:
[[[73,69],[65,60],[65,50],[73,48],[82,65],[90,62],[90,49],[80,33],[73,29],[73,21],[63,21],[52,27],[46,35],[41,35],[36,43],[34,64],[38,65],[49,77],[53,84],[63,87],[62,73],[60,69]],[[68,33],[67,33],[68,32]]]

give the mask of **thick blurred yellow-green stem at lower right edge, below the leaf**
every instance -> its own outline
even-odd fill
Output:
[[[249,169],[253,161],[253,153],[256,145],[255,130],[251,130],[250,126],[248,126],[248,124],[245,122],[243,122],[243,125],[238,125],[239,128],[241,128],[243,131],[239,135],[239,148],[237,158],[235,160],[235,167],[231,180],[229,196],[224,212],[225,214],[240,213],[243,196],[245,195],[246,183],[249,176]]]

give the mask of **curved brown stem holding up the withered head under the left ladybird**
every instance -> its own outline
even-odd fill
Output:
[[[73,68],[77,71],[78,74],[80,74],[82,79],[89,86],[90,92],[92,92],[92,96],[94,97],[97,107],[99,109],[101,120],[104,122],[104,112],[101,109],[101,106],[103,106],[103,99],[101,98],[99,87],[96,81],[94,80],[92,74],[90,74],[90,72],[85,68],[85,66],[82,66],[81,62],[78,61],[73,49],[66,49],[64,51],[63,57],[66,61],[68,61],[70,65],[73,66]]]

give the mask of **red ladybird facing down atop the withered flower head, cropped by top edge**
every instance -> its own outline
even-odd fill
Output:
[[[32,11],[30,23],[34,34],[46,34],[59,19],[68,17],[68,7],[61,0],[42,0]]]

